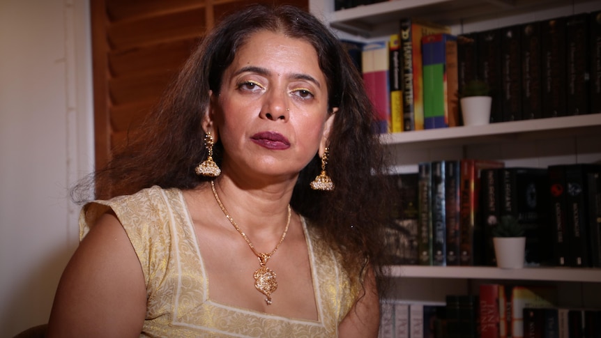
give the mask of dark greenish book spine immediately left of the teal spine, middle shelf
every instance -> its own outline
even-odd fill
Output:
[[[419,229],[418,249],[419,263],[423,266],[432,265],[432,209],[430,208],[431,165],[429,162],[418,164],[418,201],[419,201]]]

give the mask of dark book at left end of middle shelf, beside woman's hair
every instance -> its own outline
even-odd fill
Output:
[[[383,245],[391,264],[418,263],[418,174],[388,176],[393,192],[390,219],[384,227]]]

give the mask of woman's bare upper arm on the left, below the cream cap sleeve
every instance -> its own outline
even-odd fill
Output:
[[[47,337],[139,337],[145,315],[142,267],[119,220],[103,215],[63,272]]]

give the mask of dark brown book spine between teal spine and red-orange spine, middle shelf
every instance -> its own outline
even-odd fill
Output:
[[[459,265],[461,251],[461,168],[459,161],[445,162],[446,265]]]

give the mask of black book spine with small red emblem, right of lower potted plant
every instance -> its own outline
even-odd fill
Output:
[[[568,266],[570,256],[570,243],[566,232],[568,211],[565,210],[565,166],[553,165],[547,168],[549,177],[550,221],[553,233],[554,265]]]

